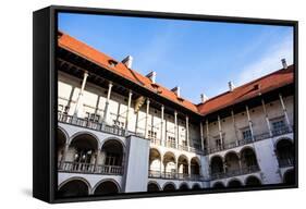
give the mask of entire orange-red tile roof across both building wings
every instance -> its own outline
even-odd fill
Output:
[[[107,69],[120,76],[123,76],[134,82],[135,84],[138,84],[151,91],[158,91],[161,97],[164,97],[171,100],[172,102],[179,103],[180,106],[183,106],[184,108],[187,108],[193,112],[200,113],[203,115],[256,97],[259,91],[261,94],[265,94],[281,86],[285,86],[287,84],[293,83],[294,66],[291,65],[286,70],[279,70],[256,81],[236,87],[233,91],[227,91],[224,94],[208,99],[204,103],[195,104],[186,99],[178,98],[173,91],[167,89],[166,87],[159,84],[154,85],[148,77],[137,73],[132,69],[128,69],[122,62],[115,61],[113,58],[87,46],[86,44],[66,34],[62,34],[61,36],[59,36],[58,45],[61,48],[64,48],[73,53],[78,54],[79,57],[83,57],[96,63],[97,65],[102,66],[103,69]],[[115,66],[111,66],[109,64],[109,61],[112,60],[118,62]]]

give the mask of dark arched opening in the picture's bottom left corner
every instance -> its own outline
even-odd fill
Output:
[[[60,197],[86,197],[89,195],[88,184],[83,180],[71,180],[59,188]]]

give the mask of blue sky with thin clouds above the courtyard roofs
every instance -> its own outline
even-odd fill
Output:
[[[293,63],[293,27],[59,14],[59,29],[134,70],[157,72],[157,83],[195,103]]]

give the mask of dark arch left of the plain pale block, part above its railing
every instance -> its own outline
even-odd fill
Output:
[[[120,139],[110,138],[105,140],[101,147],[102,164],[122,167],[124,147]]]

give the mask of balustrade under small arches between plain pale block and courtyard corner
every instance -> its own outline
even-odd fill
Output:
[[[152,170],[149,170],[149,177],[166,179],[166,180],[205,181],[205,179],[198,174],[160,172],[160,171],[152,171]]]

